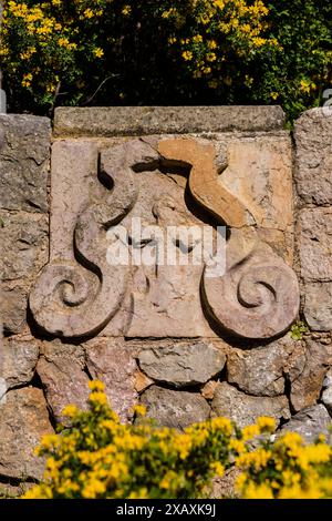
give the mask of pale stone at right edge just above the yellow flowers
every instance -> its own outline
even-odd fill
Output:
[[[281,432],[299,432],[304,441],[312,443],[320,433],[329,436],[331,417],[322,403],[301,410],[286,423]]]

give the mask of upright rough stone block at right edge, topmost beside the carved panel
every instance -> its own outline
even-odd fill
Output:
[[[304,112],[297,121],[295,181],[307,204],[332,204],[332,116],[328,108]]]

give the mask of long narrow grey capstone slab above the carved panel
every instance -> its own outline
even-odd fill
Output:
[[[59,108],[55,135],[148,135],[282,129],[280,106]]]

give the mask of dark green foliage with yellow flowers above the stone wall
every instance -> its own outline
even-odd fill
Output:
[[[58,104],[282,104],[331,86],[330,0],[4,2],[12,111]]]

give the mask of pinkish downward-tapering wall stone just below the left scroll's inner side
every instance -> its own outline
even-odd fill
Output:
[[[93,378],[105,384],[112,408],[123,422],[133,417],[137,402],[135,390],[136,361],[123,341],[112,338],[97,338],[85,344],[86,365]]]

